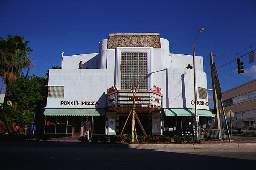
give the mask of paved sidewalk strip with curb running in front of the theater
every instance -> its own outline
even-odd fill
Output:
[[[80,136],[64,138],[51,138],[49,141],[28,141],[28,142],[0,142],[0,146],[38,146],[38,147],[129,147],[129,148],[202,148],[202,147],[253,147],[256,148],[256,141],[205,141],[200,144],[122,144],[122,143],[81,143]]]

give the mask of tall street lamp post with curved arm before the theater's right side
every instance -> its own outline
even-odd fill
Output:
[[[198,31],[198,35],[200,32],[203,32],[204,28],[200,28]],[[195,42],[198,38],[198,35],[196,36]],[[195,71],[195,43],[193,44],[193,65],[194,65],[194,94],[195,94],[195,136],[198,137],[198,122],[199,122],[199,116],[198,116],[198,110],[197,110],[197,89],[196,89],[196,71]]]

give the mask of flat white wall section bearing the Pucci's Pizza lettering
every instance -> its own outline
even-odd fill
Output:
[[[47,108],[105,108],[107,77],[107,69],[50,69],[48,85],[64,86],[64,98],[47,98]],[[61,101],[78,101],[79,105],[61,105]],[[81,105],[82,101],[99,105]]]

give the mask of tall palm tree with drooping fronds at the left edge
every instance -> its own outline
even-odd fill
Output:
[[[3,105],[8,101],[8,86],[20,77],[20,73],[23,68],[31,66],[32,62],[27,57],[27,52],[33,51],[30,47],[27,47],[29,41],[23,42],[23,37],[20,35],[8,35],[8,38],[0,39],[0,76],[2,76],[2,85],[0,92],[3,88],[3,83],[6,84],[6,92]],[[1,111],[3,119],[5,121],[8,133],[10,130],[7,126],[3,111]]]

